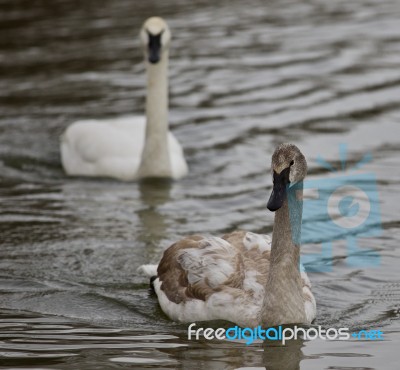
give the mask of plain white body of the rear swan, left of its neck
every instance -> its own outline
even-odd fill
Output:
[[[70,125],[61,138],[61,160],[69,175],[133,180],[144,144],[145,117],[85,120]]]

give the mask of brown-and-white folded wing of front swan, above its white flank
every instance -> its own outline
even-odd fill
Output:
[[[245,232],[223,238],[191,236],[171,246],[158,268],[161,289],[175,303],[206,301],[217,292],[251,295],[264,292],[269,251],[244,245]]]

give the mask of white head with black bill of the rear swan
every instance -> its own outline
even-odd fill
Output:
[[[157,64],[165,51],[169,49],[171,32],[164,19],[151,17],[144,22],[140,31],[140,39],[146,60],[151,64]]]

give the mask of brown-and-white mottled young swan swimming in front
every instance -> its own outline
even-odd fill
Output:
[[[311,283],[299,268],[302,206],[289,217],[289,186],[302,193],[307,162],[293,144],[279,145],[272,156],[273,190],[268,209],[275,212],[271,238],[235,231],[222,238],[193,235],[169,247],[160,264],[139,270],[152,278],[162,310],[173,320],[222,319],[242,327],[310,324],[316,315]],[[295,239],[297,240],[297,239]],[[156,270],[157,268],[157,270]]]

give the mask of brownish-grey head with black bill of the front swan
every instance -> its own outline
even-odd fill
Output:
[[[306,177],[307,162],[296,145],[280,144],[272,155],[271,170],[274,185],[267,208],[275,212],[282,207],[287,188]]]

